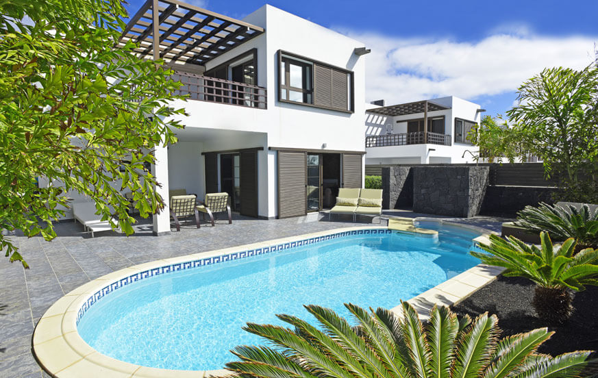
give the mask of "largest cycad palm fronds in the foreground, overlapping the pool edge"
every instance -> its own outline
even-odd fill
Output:
[[[321,327],[278,315],[294,329],[248,323],[244,329],[269,346],[237,346],[240,358],[226,367],[241,377],[411,378],[411,377],[578,377],[587,351],[550,357],[536,353],[553,332],[546,328],[498,340],[496,316],[458,320],[448,307],[434,307],[423,325],[406,302],[402,315],[368,312],[345,304],[358,325],[332,310],[308,305]]]

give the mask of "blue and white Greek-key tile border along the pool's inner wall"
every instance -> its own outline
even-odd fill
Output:
[[[316,236],[314,238],[308,238],[303,240],[297,240],[293,242],[284,242],[281,244],[274,244],[269,247],[262,247],[257,249],[249,249],[246,251],[238,251],[233,253],[228,253],[225,255],[218,255],[212,257],[205,257],[199,260],[192,260],[188,262],[177,262],[175,264],[166,265],[166,266],[158,266],[156,268],[151,268],[147,270],[143,270],[139,273],[134,273],[133,275],[129,275],[128,277],[124,277],[119,279],[118,281],[114,281],[103,288],[97,290],[97,292],[90,295],[90,297],[83,303],[81,308],[79,308],[79,312],[77,312],[77,319],[76,324],[79,325],[79,320],[84,316],[85,312],[89,310],[89,308],[94,305],[97,301],[105,297],[107,294],[110,294],[114,290],[118,290],[123,288],[129,283],[134,283],[137,281],[141,281],[142,279],[147,279],[151,277],[155,277],[157,275],[163,275],[166,273],[172,273],[179,270],[187,270],[192,268],[198,268],[200,266],[208,266],[212,264],[219,264],[221,262],[229,262],[233,260],[238,260],[246,257],[253,257],[258,255],[264,255],[266,253],[272,253],[277,251],[284,251],[285,249],[301,247],[308,244],[315,244],[319,242],[325,242],[327,240],[332,240],[336,238],[342,238],[345,236],[353,236],[353,235],[377,235],[377,234],[392,234],[393,230],[391,229],[353,229],[351,231],[342,231],[337,232],[335,234],[329,234],[324,236]]]

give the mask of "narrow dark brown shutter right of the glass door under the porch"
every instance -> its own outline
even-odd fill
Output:
[[[242,151],[240,163],[239,214],[258,218],[258,151]]]

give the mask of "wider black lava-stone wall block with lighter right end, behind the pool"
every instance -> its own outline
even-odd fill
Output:
[[[479,214],[486,187],[487,166],[416,166],[413,171],[413,211],[471,217]]]

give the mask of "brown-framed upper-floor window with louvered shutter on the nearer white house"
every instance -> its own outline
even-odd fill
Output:
[[[341,113],[347,113],[347,114],[353,114],[355,112],[355,74],[353,73],[353,71],[349,71],[345,68],[340,68],[337,66],[332,66],[331,64],[327,64],[327,63],[323,63],[320,62],[318,60],[314,60],[314,59],[310,59],[310,58],[306,58],[304,56],[301,55],[297,55],[294,53],[289,53],[288,51],[283,51],[283,50],[279,50],[278,51],[278,83],[277,83],[277,89],[278,89],[278,101],[280,103],[292,103],[292,104],[296,104],[296,105],[303,105],[303,106],[310,106],[312,108],[318,108],[318,109],[325,109],[325,110],[332,110],[334,112],[341,112]],[[288,99],[288,92],[287,92],[287,99],[284,99],[282,97],[282,91],[283,90],[295,90],[297,92],[303,91],[303,88],[296,88],[296,87],[290,87],[290,86],[286,86],[284,85],[284,83],[286,82],[286,77],[283,77],[283,70],[282,68],[282,62],[283,59],[288,59],[288,60],[294,60],[295,62],[298,62],[299,64],[306,64],[304,62],[310,62],[311,63],[311,89],[310,89],[310,94],[311,94],[311,103],[306,103],[306,102],[299,102],[299,101],[291,101]],[[342,73],[346,73],[347,74],[347,81],[348,81],[348,85],[347,85],[347,104],[349,105],[349,109],[347,110],[342,110],[342,109],[338,109],[338,108],[332,108],[332,107],[327,107],[327,106],[322,106],[322,105],[316,105],[314,104],[314,65],[317,64],[319,66],[325,66],[327,68],[332,68],[336,71],[340,71]],[[285,64],[285,75],[286,72],[288,71],[286,69],[287,65]]]

